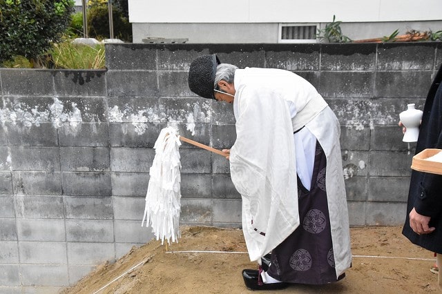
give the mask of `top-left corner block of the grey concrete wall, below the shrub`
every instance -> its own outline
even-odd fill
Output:
[[[3,68],[1,82],[3,95],[54,95],[50,70]]]

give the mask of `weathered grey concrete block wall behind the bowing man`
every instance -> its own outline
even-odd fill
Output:
[[[403,224],[414,146],[398,114],[423,107],[440,43],[107,44],[106,70],[0,69],[0,293],[57,293],[153,237],[140,225],[160,130],[214,148],[236,138],[231,105],[187,86],[209,53],[314,84],[340,120],[350,224]],[[181,224],[239,227],[228,161],[180,155]]]

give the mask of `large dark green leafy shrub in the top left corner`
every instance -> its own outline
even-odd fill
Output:
[[[63,36],[73,0],[0,0],[0,63],[21,55],[39,67],[39,57]]]

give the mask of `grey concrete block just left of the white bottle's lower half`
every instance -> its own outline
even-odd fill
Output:
[[[399,119],[398,119],[399,121]],[[370,146],[372,150],[408,151],[408,144],[402,141],[402,128],[396,126],[376,126],[372,130]],[[416,144],[413,144],[415,147]]]

